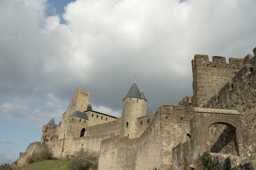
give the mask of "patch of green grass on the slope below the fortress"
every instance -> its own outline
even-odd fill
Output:
[[[28,164],[18,170],[68,170],[68,161],[66,159],[50,159],[43,162]]]

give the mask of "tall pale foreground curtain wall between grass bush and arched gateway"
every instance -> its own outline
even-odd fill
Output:
[[[140,137],[129,140],[128,137],[120,139],[114,136],[103,140],[99,169],[171,169],[172,148],[188,140],[190,132],[189,116],[184,111],[183,106],[162,105],[154,117],[142,117],[146,120],[146,130]],[[149,118],[153,119],[148,125]],[[122,158],[119,158],[119,153],[124,153]],[[122,164],[123,159],[125,164]]]

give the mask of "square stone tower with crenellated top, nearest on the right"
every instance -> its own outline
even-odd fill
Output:
[[[246,57],[246,61],[247,57]],[[243,60],[230,58],[230,63],[225,62],[225,57],[213,56],[209,62],[208,55],[195,55],[192,60],[193,70],[193,106],[201,107],[223,87],[232,81],[235,74],[242,68]]]

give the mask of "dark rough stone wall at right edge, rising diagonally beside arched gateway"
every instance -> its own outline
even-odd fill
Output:
[[[256,48],[254,49],[254,53]],[[256,55],[256,53],[254,54]],[[250,57],[248,57],[250,58]],[[245,154],[256,158],[256,143],[253,136],[256,136],[256,57],[250,59],[245,67],[240,69],[222,89],[210,98],[204,107],[235,109],[242,113],[242,126],[245,134]]]

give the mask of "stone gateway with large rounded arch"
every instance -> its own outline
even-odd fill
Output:
[[[243,155],[241,118],[234,110],[194,108],[191,121],[193,157],[206,151]]]

